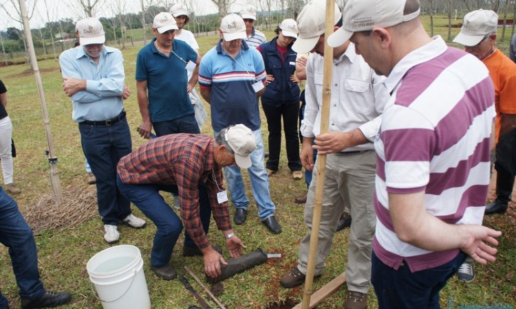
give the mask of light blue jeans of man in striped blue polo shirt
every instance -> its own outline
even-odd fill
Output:
[[[252,195],[258,205],[258,216],[261,220],[265,220],[274,215],[276,207],[270,199],[269,176],[267,176],[264,166],[264,140],[261,138],[261,130],[258,129],[252,131],[252,133],[255,134],[256,149],[250,154],[252,165],[248,168],[248,172]],[[247,209],[249,200],[246,196],[240,168],[236,165],[228,166],[224,168],[224,174],[228,182],[231,202],[236,208]]]

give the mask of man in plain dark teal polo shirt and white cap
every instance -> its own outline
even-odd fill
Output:
[[[159,13],[152,26],[155,38],[138,52],[136,88],[142,137],[149,137],[153,127],[158,136],[200,133],[189,93],[199,78],[201,56],[184,41],[174,40],[175,30],[178,25],[172,14]]]

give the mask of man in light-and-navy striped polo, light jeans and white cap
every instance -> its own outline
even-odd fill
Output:
[[[261,222],[272,233],[281,233],[270,199],[269,178],[264,166],[264,141],[257,98],[265,92],[264,60],[254,48],[243,41],[246,25],[237,14],[222,19],[219,32],[222,36],[217,46],[204,55],[199,72],[199,84],[204,100],[211,104],[211,125],[215,134],[231,124],[244,124],[256,137],[257,148],[250,154],[252,165],[248,168],[252,194],[258,205]],[[235,205],[233,220],[241,225],[246,220],[249,200],[244,181],[237,166],[225,168],[226,181]]]

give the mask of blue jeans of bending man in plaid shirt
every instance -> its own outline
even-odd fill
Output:
[[[151,251],[151,265],[154,267],[163,266],[169,263],[175,243],[181,235],[183,225],[181,218],[164,201],[160,191],[178,194],[177,185],[131,185],[122,183],[120,176],[116,176],[116,182],[120,192],[136,205],[147,218],[154,222],[158,228]],[[202,229],[208,235],[210,226],[211,206],[208,199],[206,185],[199,183],[199,205]],[[184,232],[184,245],[196,247],[188,231]]]

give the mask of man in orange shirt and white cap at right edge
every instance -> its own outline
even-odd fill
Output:
[[[516,64],[495,47],[497,26],[495,12],[469,12],[464,16],[460,34],[453,39],[484,62],[495,86],[496,200],[486,206],[486,215],[507,211],[516,174]],[[458,278],[464,282],[475,278],[471,258],[462,264]]]

